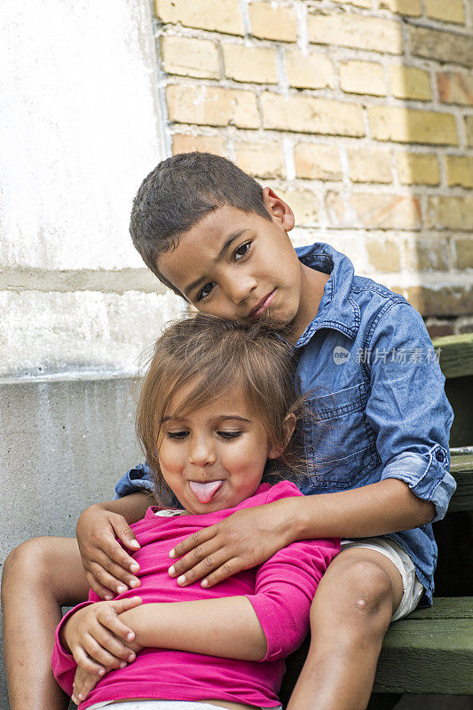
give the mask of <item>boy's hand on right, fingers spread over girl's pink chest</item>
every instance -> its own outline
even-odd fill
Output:
[[[181,587],[203,577],[201,586],[209,588],[263,564],[294,541],[285,505],[290,500],[237,510],[221,523],[193,533],[169,552],[173,559],[182,557],[169,567],[169,575],[177,577]]]

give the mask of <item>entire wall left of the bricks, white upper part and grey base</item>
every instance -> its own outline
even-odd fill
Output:
[[[130,374],[181,309],[128,233],[166,155],[148,0],[1,5],[0,565],[140,461]]]

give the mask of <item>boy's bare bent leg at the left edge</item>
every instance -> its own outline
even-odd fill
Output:
[[[62,710],[67,698],[51,672],[61,606],[87,598],[75,539],[35,538],[7,557],[2,578],[4,662],[10,710]]]

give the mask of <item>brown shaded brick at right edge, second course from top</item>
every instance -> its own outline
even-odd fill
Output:
[[[416,57],[473,66],[472,36],[414,26],[407,30],[410,49]]]

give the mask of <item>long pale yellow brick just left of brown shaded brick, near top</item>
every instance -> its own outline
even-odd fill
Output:
[[[395,20],[366,17],[352,12],[311,14],[307,18],[311,42],[354,47],[360,50],[401,54],[401,26]]]

